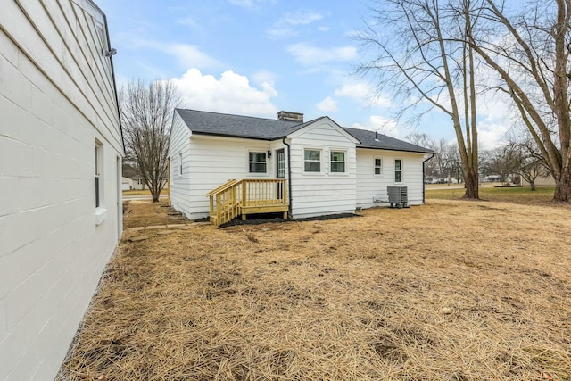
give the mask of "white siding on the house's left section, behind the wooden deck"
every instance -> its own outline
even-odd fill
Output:
[[[183,176],[171,170],[171,203],[189,219],[207,217],[209,199],[205,195],[231,178],[274,178],[274,156],[267,160],[267,173],[248,172],[248,151],[266,152],[269,142],[231,137],[208,137],[175,131],[184,129],[173,123],[171,166],[178,166],[178,153],[183,153]],[[186,128],[188,131],[188,128]],[[186,142],[186,143],[185,143]]]

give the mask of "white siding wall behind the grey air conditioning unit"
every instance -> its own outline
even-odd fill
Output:
[[[382,159],[382,174],[375,174],[375,159]],[[402,160],[402,182],[394,182],[394,160]],[[386,206],[387,186],[407,186],[410,205],[422,204],[422,153],[383,150],[357,150],[357,206]],[[384,201],[374,203],[374,198]]]

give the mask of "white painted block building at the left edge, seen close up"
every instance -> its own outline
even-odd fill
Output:
[[[122,228],[103,12],[0,8],[0,380],[54,379]]]

